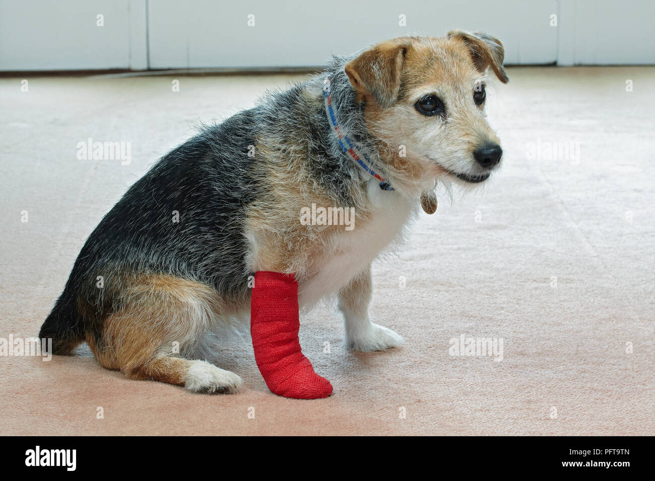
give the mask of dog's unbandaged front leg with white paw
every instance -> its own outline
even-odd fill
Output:
[[[368,306],[372,292],[371,266],[353,277],[339,291],[339,310],[343,313],[346,345],[354,351],[384,351],[403,342],[396,332],[370,321]]]

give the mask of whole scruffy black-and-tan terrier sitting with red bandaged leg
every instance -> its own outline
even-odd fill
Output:
[[[481,183],[500,162],[484,108],[488,67],[508,81],[503,57],[483,33],[384,41],[204,128],[98,224],[41,338],[55,354],[86,340],[128,378],[232,392],[242,379],[198,349],[250,308],[271,391],[330,395],[301,353],[299,308],[338,293],[350,348],[401,344],[369,320],[371,262],[419,205],[436,209],[439,184]]]

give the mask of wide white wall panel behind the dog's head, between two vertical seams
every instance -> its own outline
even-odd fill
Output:
[[[556,0],[506,0],[493,9],[489,0],[195,0],[193,5],[149,3],[151,67],[321,65],[332,52],[349,54],[407,33],[440,36],[455,27],[500,38],[507,63],[555,62],[557,29],[548,18],[557,12]],[[254,27],[248,26],[249,14]],[[399,26],[401,14],[406,27]]]

